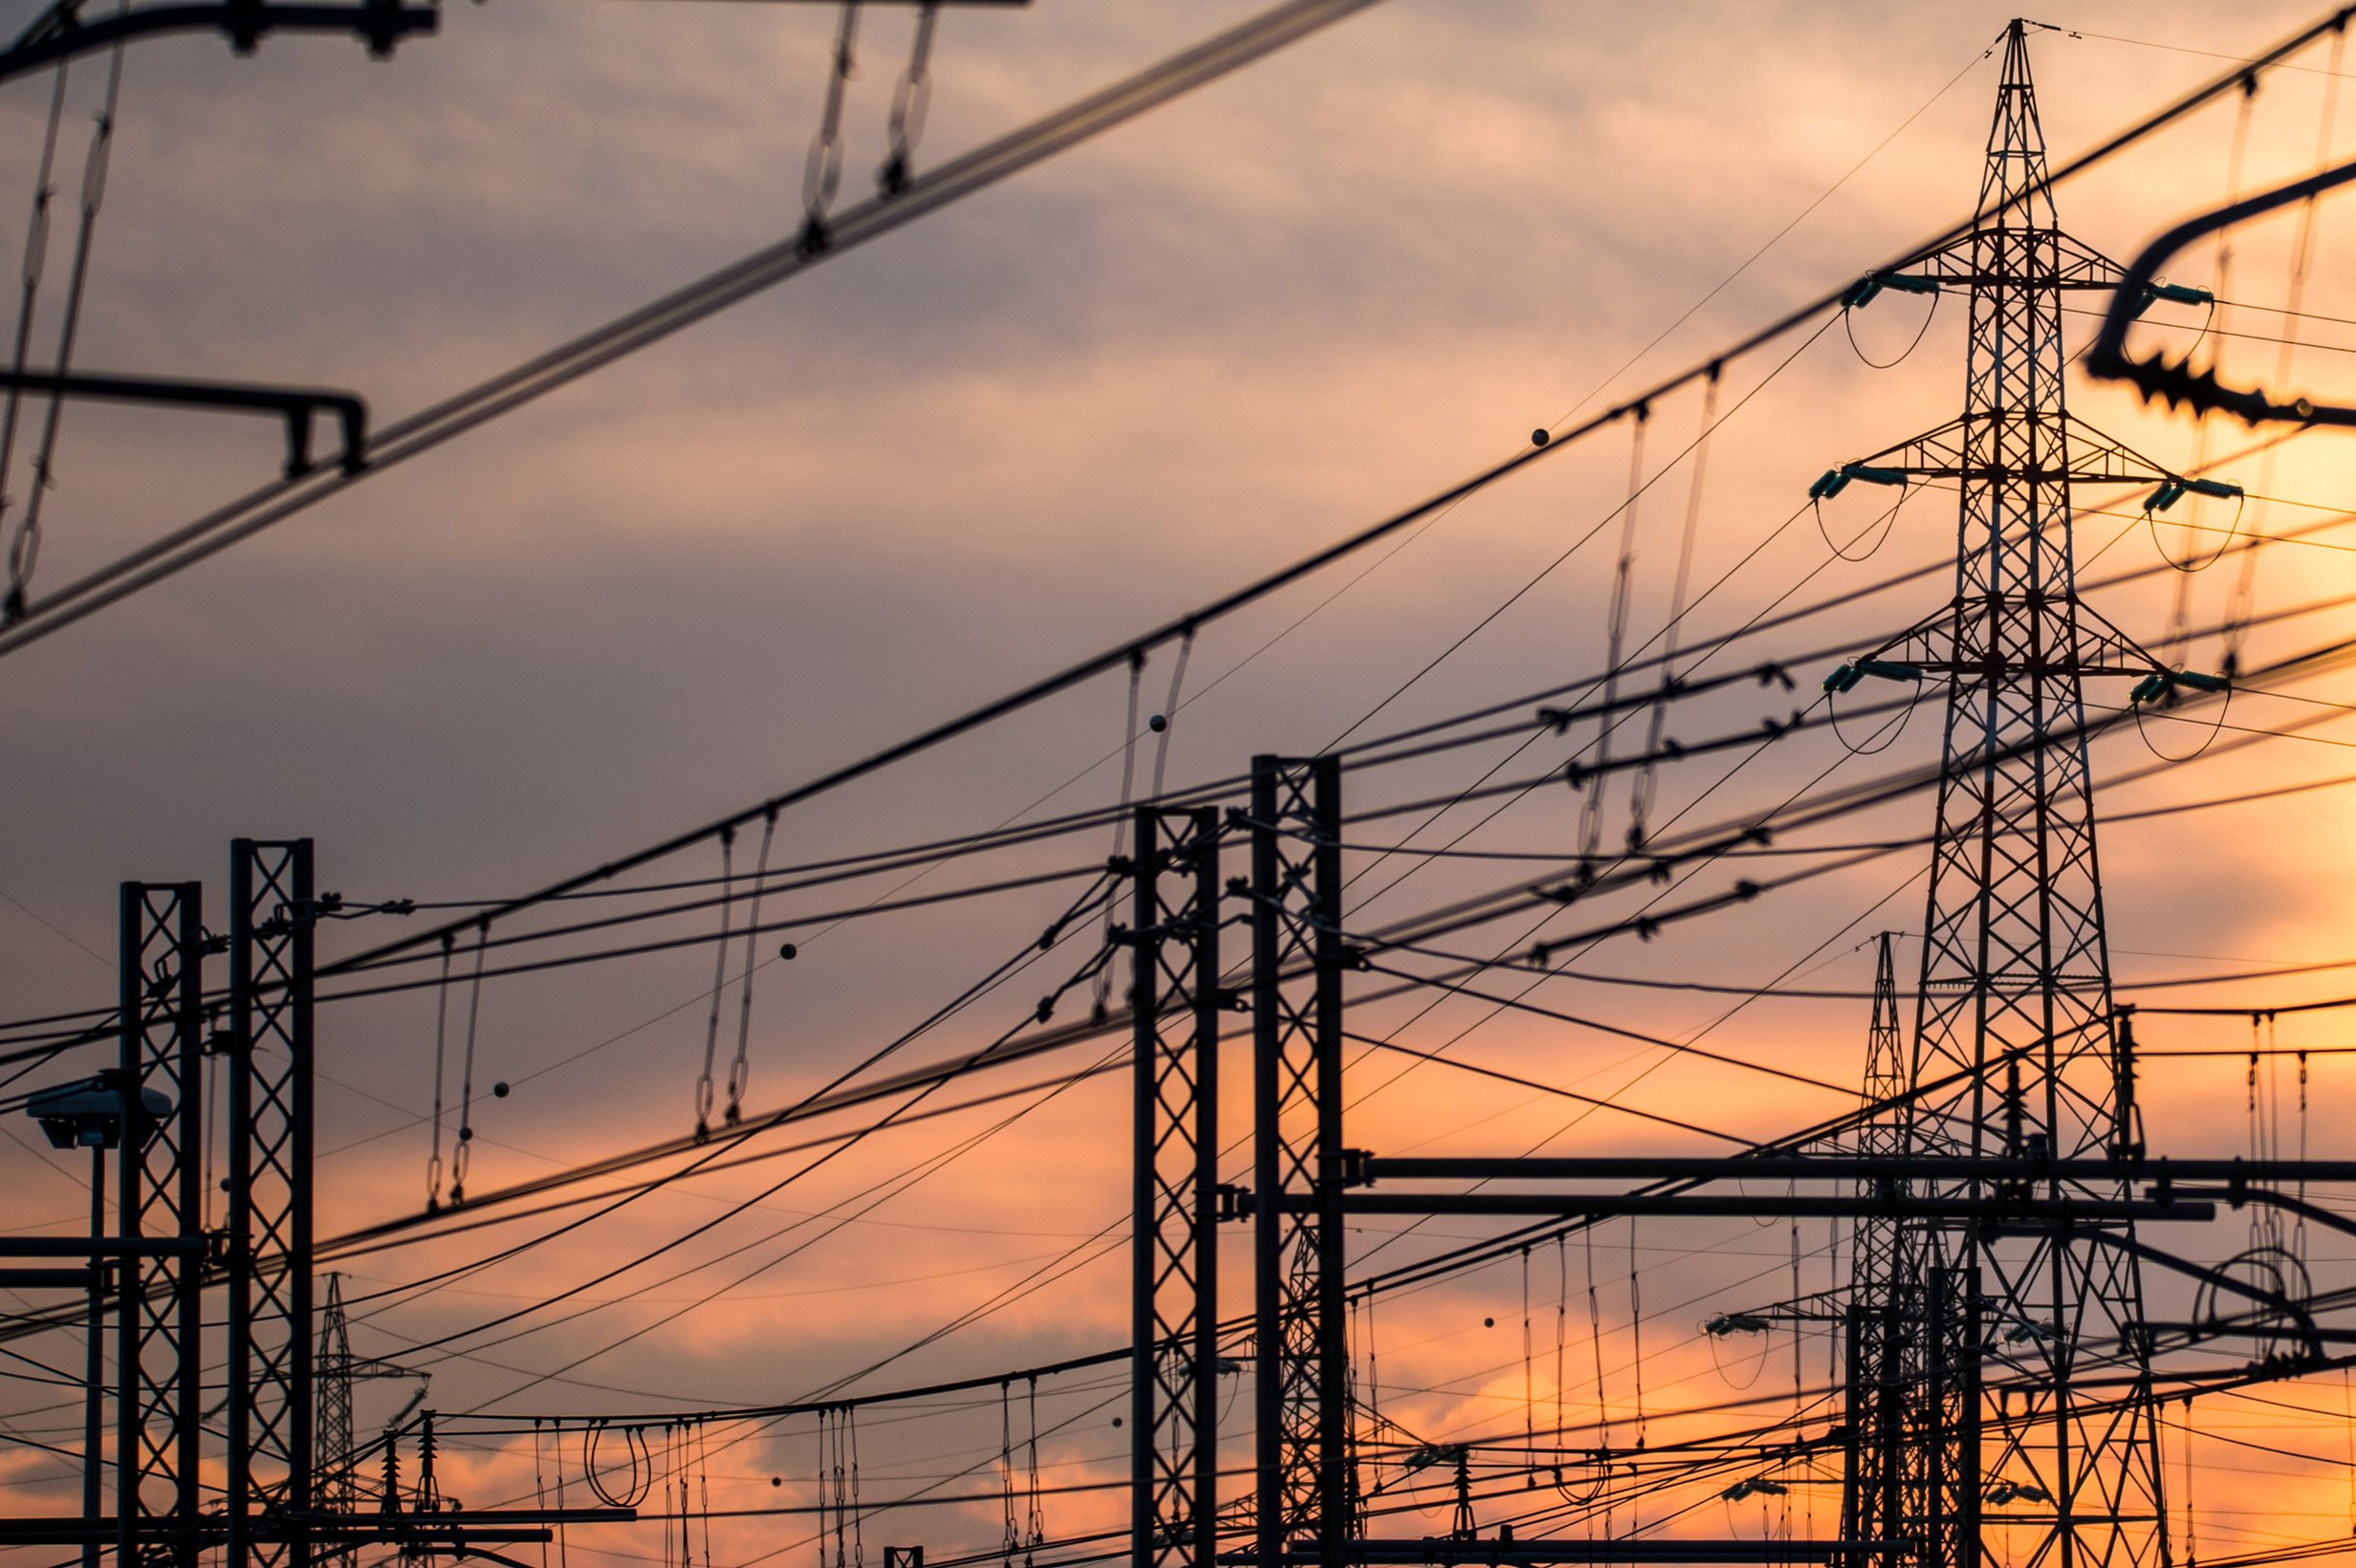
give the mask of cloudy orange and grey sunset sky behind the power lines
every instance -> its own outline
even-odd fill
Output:
[[[1037,0],[949,12],[916,165],[1253,9]],[[1392,0],[9,655],[0,662],[9,1017],[113,998],[118,881],[205,878],[221,925],[233,836],[316,838],[323,885],[358,902],[464,909],[518,895],[1183,614],[1454,485],[1527,445],[1534,426],[1560,426],[1708,360],[1748,327],[1967,212],[1996,85],[1988,47],[2005,19],[1988,5]],[[2087,0],[2043,21],[2054,31],[2031,42],[2045,129],[2062,155],[2302,26],[2309,12],[2271,0],[2231,16],[2212,5]],[[820,5],[490,0],[452,5],[436,38],[403,45],[391,61],[335,38],[271,38],[250,59],[217,38],[144,42],[125,61],[78,365],[342,386],[396,419],[794,233],[832,28],[834,9]],[[909,28],[905,7],[867,7],[843,111],[843,200],[872,188],[884,158]],[[2069,184],[2064,224],[2125,257],[2226,198],[2236,144],[2243,191],[2311,170],[2318,144],[2344,153],[2356,132],[2330,97],[2344,82],[2328,64],[2318,47],[2299,71],[2269,73],[2245,111],[2233,101],[2205,108]],[[101,89],[99,64],[75,66],[66,82],[61,217],[33,363],[54,341]],[[2325,108],[2340,111],[2337,122]],[[0,89],[0,193],[16,193],[0,207],[0,250],[24,233],[47,113],[49,78]],[[2203,344],[2236,377],[2271,379],[2285,325],[2297,320],[2307,346],[2290,363],[2292,381],[2318,400],[2356,400],[2347,370],[2356,327],[2330,320],[2356,315],[2344,266],[2356,231],[2344,207],[2321,207],[2299,306],[2323,320],[2269,311],[2299,287],[2295,242],[2295,219],[2266,224],[2238,235],[2231,254],[2182,257],[2172,275],[2238,301],[2208,323]],[[1821,469],[1958,410],[1963,313],[1946,304],[1925,323],[1925,311],[1922,299],[1885,294],[1814,339],[1821,323],[1729,365],[1720,412],[1739,410],[1708,443],[1699,501],[1689,454],[1699,396],[1656,405],[1637,454],[1656,483],[1637,509],[1630,643],[1652,638],[1668,614],[1689,504],[1699,506],[1694,584],[1725,574],[1689,640],[1779,603],[1828,605],[1739,645],[1727,666],[1793,659],[1809,683],[1840,650],[1937,607],[1937,572],[1861,591],[1951,558],[1951,494],[1908,501],[1887,532],[1868,527],[1880,501],[1857,490],[1824,511],[1828,532],[1795,513]],[[2163,308],[2156,320],[2151,341],[2184,348],[2203,313]],[[2071,344],[2090,327],[2069,318]],[[2184,469],[2252,440],[2222,424],[2201,431],[2146,414],[2071,374],[2073,410],[2160,464]],[[2087,579],[2123,579],[2094,603],[2151,645],[2179,605],[2186,626],[2222,626],[2241,558],[2179,577],[2160,565],[2163,551],[2198,565],[2226,537],[2217,530],[2285,534],[2330,523],[2349,504],[2340,440],[2309,436],[2233,466],[2238,483],[2274,501],[2172,513],[2198,527],[2146,530],[2132,509],[2085,518]],[[75,405],[33,598],[264,483],[278,461],[266,419]],[[1630,438],[1619,426],[1451,509],[1397,553],[1359,558],[1204,631],[1180,685],[1187,706],[1166,739],[1169,782],[1223,779],[1256,751],[1312,753],[1343,735],[1404,730],[1593,676],[1607,655],[1616,525],[1564,551],[1621,506],[1628,473]],[[9,525],[28,485],[21,461],[0,476]],[[1875,553],[1833,560],[1828,537],[1859,537],[1849,553]],[[2266,549],[2255,612],[2349,593],[2347,544],[2349,534],[2325,530]],[[2347,624],[2344,607],[2266,622],[2250,631],[2243,664],[2330,643]],[[2217,636],[2196,636],[2179,657],[2215,669],[2222,652]],[[1143,671],[1147,711],[1164,706],[1171,664],[1164,650]],[[1798,697],[1736,687],[1680,709],[1670,732],[1701,739],[1753,727],[1809,695],[1805,685]],[[2328,706],[2349,699],[2344,678],[2328,673],[2281,683],[2274,697],[2245,695],[2215,756],[2127,779],[2104,810],[2351,772],[2356,735]],[[2189,753],[2208,718],[2153,723],[2149,739]],[[2290,725],[2304,725],[2297,739],[2266,735]],[[1107,805],[1121,789],[1126,735],[1129,685],[1114,673],[789,812],[773,862]],[[1364,782],[1352,775],[1352,810],[1465,789],[1510,744]],[[1685,826],[1741,819],[1833,765],[1828,784],[1927,763],[1934,716],[1915,716],[1890,746],[1849,758],[1833,735],[1812,735],[1725,784],[1732,758],[1668,768],[1659,815],[1682,815]],[[1543,772],[1567,749],[1550,742],[1498,777]],[[1140,768],[1159,751],[1147,737]],[[2149,763],[2132,730],[2097,749],[2104,779]],[[2349,958],[2337,932],[2356,899],[2337,866],[2356,833],[2342,800],[2318,789],[2109,831],[2120,984]],[[1416,843],[1447,843],[1484,812],[1418,829]],[[1918,833],[1927,815],[1915,796],[1821,838]],[[1463,843],[1562,852],[1576,841],[1576,817],[1574,796],[1541,791]],[[1366,843],[1392,843],[1421,822],[1371,819]],[[1621,826],[1614,819],[1612,833]],[[735,871],[747,869],[756,836],[737,841]],[[1107,852],[1110,836],[1053,841],[928,873],[919,892],[1084,869]],[[1871,982],[1871,935],[1920,925],[1920,881],[1908,881],[1918,862],[1875,859],[1652,944],[1607,942],[1583,954],[1583,968],[1725,984],[1795,975],[1805,979],[1788,984],[1859,991]],[[719,871],[719,850],[704,845],[641,881]],[[1399,871],[1374,871],[1371,897],[1357,904],[1364,913],[1352,918],[1409,918],[1517,876],[1425,859],[1392,888]],[[799,958],[756,975],[747,1109],[789,1104],[921,1022],[1086,885],[1058,881],[841,925],[818,918],[888,897],[902,876],[768,906],[766,918],[806,925],[794,932]],[[1713,878],[1694,892],[1727,881]],[[1614,904],[1628,909],[1633,899]],[[356,951],[426,918],[335,928],[323,951]],[[707,935],[712,921],[700,911],[655,935]],[[1465,939],[1503,949],[1513,930]],[[1899,951],[1906,970],[1915,949]],[[909,1045],[895,1067],[994,1038],[1086,958],[1086,944],[1058,949],[987,1005]],[[740,996],[737,958],[728,965],[723,1057]],[[431,963],[403,972],[431,975]],[[474,1114],[469,1182],[497,1189],[688,1132],[712,975],[709,946],[686,946],[452,991],[455,1012],[441,1015],[443,1099],[462,1092],[457,1012],[474,1015],[478,1097],[490,1081],[514,1085]],[[2156,989],[2142,1001],[2264,1008],[2344,986],[2344,970],[2318,970]],[[1715,1050],[1835,1085],[1857,1081],[1864,1052],[1864,1003],[1849,996],[1734,1008],[1729,996],[1586,982],[1553,982],[1543,996],[1626,1029],[1680,1041],[1708,1034]],[[1692,1059],[1663,1067],[1661,1052],[1628,1041],[1531,1017],[1482,1022],[1482,1008],[1447,998],[1425,1012],[1430,1001],[1369,1005],[1357,1026],[1421,1050],[1454,1050],[1463,1038],[1463,1055],[1484,1067],[1626,1095],[1637,1109],[1734,1137],[1847,1109],[1838,1092]],[[434,989],[323,1010],[323,1234],[424,1205],[436,1017]],[[2281,1041],[2330,1045],[2337,1017],[2285,1017]],[[2248,1031],[2236,1019],[2156,1017],[2144,1036],[2236,1048]],[[1442,1069],[1399,1076],[1407,1067],[1397,1055],[1371,1057],[1366,1078],[1352,1078],[1364,1085],[1352,1142],[1383,1151],[1720,1147],[1677,1142],[1633,1116],[1574,1123],[1579,1111],[1560,1095]],[[2292,1104],[2288,1078],[2276,1092]],[[2349,1123],[2351,1095],[2356,1074],[2316,1057],[2314,1140]],[[2153,1142],[2186,1154],[2248,1147],[2238,1059],[2153,1064],[2146,1097]],[[445,1114],[445,1140],[455,1125]],[[401,1285],[549,1222],[353,1257],[346,1290],[375,1297],[353,1342],[431,1368],[441,1410],[523,1415],[787,1401],[978,1309],[985,1316],[971,1328],[893,1358],[860,1387],[1103,1349],[1126,1335],[1126,1264],[1105,1253],[1124,1222],[1124,1125],[1121,1085],[1107,1078],[876,1135],[655,1264],[582,1290],[568,1311],[594,1307],[587,1316],[549,1311],[483,1328],[728,1212],[792,1161],[683,1182],[426,1295]],[[2283,1111],[2285,1137],[2304,1128],[2307,1118]],[[31,1147],[0,1156],[19,1194],[14,1229],[80,1222],[78,1168]],[[909,1177],[921,1180],[902,1194],[898,1182]],[[879,1194],[888,1201],[872,1205]],[[839,1224],[846,1215],[855,1222]],[[1727,1398],[1692,1333],[1706,1309],[1682,1302],[1758,1271],[1765,1281],[1743,1288],[1788,1295],[1781,1269],[1800,1245],[1781,1231],[1736,1229],[1614,1238],[1635,1248],[1609,1264],[1616,1295],[1597,1307],[1614,1387],[1583,1398],[1616,1408],[1628,1398],[1626,1368],[1640,1361],[1652,1366],[1659,1408]],[[2241,1220],[2224,1229],[2236,1236],[2215,1243],[2219,1255],[2241,1245]],[[1468,1234],[1468,1222],[1454,1222],[1366,1245],[1404,1257]],[[1805,1271],[1802,1288],[1840,1276],[1845,1264],[1826,1245],[1807,1236],[1805,1257],[1788,1264]],[[1659,1281],[1644,1297],[1652,1337],[1628,1328],[1640,1316],[1628,1300],[1630,1257]],[[1758,1269],[1736,1267],[1743,1260]],[[2314,1262],[2321,1274],[2325,1257]],[[1557,1297],[1569,1293],[1583,1311],[1586,1260],[1548,1255],[1534,1267],[1531,1333],[1553,1354]],[[1051,1283],[1030,1288],[1041,1269]],[[1522,1290],[1505,1267],[1397,1309],[1397,1337],[1383,1347],[1385,1380],[1397,1368],[1404,1389],[1397,1420],[1456,1436],[1520,1422],[1522,1342],[1505,1340]],[[417,1349],[445,1335],[462,1337]],[[1819,1340],[1802,1349],[1824,1356]],[[54,1337],[42,1354],[80,1351]],[[1560,1361],[1536,1375],[1557,1370]],[[365,1387],[363,1429],[389,1417],[408,1387]],[[1041,1394],[1041,1424],[1058,1431],[1041,1450],[1048,1483],[1112,1474],[1124,1436],[1107,1427],[1112,1406],[1098,1403],[1114,1391],[1098,1375]],[[75,1413],[52,1394],[16,1391],[12,1429],[71,1446]],[[947,1493],[992,1490],[997,1417],[997,1396],[916,1420],[902,1413],[895,1434],[869,1439],[869,1486],[912,1490],[949,1476]],[[2238,1420],[2219,1410],[2212,1424]],[[514,1441],[483,1443],[455,1460],[471,1467],[466,1500],[530,1497],[532,1455]],[[726,1457],[709,1464],[714,1509],[813,1500],[808,1420],[712,1439],[721,1443]],[[2226,1448],[2201,1455],[2219,1486],[2252,1460]],[[2212,1490],[2205,1540],[2340,1533],[2340,1471],[2257,1462],[2297,1486],[2271,1516]],[[563,1464],[577,1476],[580,1455]],[[71,1507],[57,1455],[19,1448],[5,1467],[26,1507]],[[782,1486],[768,1486],[773,1474]],[[1107,1495],[1079,1493],[1055,1504],[1048,1526],[1084,1533],[1114,1516]],[[949,1556],[992,1547],[1001,1523],[994,1502],[931,1509],[921,1533],[902,1519],[879,1516],[869,1535],[928,1533],[935,1554]],[[1440,1528],[1444,1509],[1425,1528]],[[719,1530],[723,1554],[740,1561],[801,1549],[806,1535],[801,1516]],[[653,1528],[573,1544],[617,1559],[676,1552]]]

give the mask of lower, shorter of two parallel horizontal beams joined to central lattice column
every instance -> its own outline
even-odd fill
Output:
[[[1315,1215],[1317,1194],[1289,1191],[1282,1198],[1289,1215]],[[1581,1194],[1581,1191],[1366,1191],[1341,1194],[1345,1215],[1659,1215],[1689,1220],[2047,1220],[2123,1224],[2127,1220],[2215,1220],[2215,1203],[2184,1198],[1875,1198],[1875,1196],[1685,1196],[1685,1194]]]

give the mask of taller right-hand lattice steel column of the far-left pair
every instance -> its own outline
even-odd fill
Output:
[[[226,1568],[311,1561],[311,841],[238,838],[229,1074]]]

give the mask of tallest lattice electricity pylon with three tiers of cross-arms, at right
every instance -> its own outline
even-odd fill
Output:
[[[1901,1151],[2127,1158],[2083,680],[2137,676],[2142,697],[2212,678],[2170,676],[2078,603],[2071,490],[2224,487],[2170,476],[2064,407],[2062,292],[2109,290],[2120,268],[2057,226],[2019,21],[2005,33],[1979,212],[1970,233],[1852,294],[1970,299],[1965,412],[1835,469],[1816,494],[1937,478],[1963,504],[1953,600],[1826,687],[1946,683]],[[1991,1187],[1963,1177],[1946,1191]],[[2116,1180],[2033,1187],[2054,1198],[2125,1191]],[[1861,1559],[1979,1568],[1996,1537],[2024,1568],[2163,1559],[2151,1370],[2135,1333],[2142,1278],[2120,1241],[2132,1236],[2090,1224],[1998,1236],[1911,1222],[1859,1255],[1845,1511],[1849,1540],[1878,1542]],[[1984,1424],[1991,1356],[2010,1363],[2024,1398]],[[2078,1391],[2090,1373],[2113,1384],[2099,1398]],[[2116,1398],[2120,1375],[2127,1398]],[[1899,1396],[1875,1396],[1885,1389]]]

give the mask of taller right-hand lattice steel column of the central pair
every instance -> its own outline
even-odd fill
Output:
[[[1350,1398],[1341,1224],[1341,758],[1251,760],[1253,1533],[1350,1547]],[[1308,970],[1308,984],[1284,984]],[[1301,1198],[1310,1198],[1301,1212]]]

